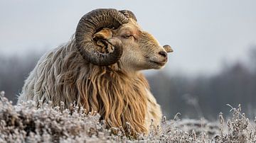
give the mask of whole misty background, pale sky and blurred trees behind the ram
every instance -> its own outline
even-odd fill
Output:
[[[0,0],[0,91],[16,103],[23,81],[48,50],[68,42],[95,8],[133,11],[174,53],[144,71],[164,115],[215,120],[242,104],[256,115],[256,1]]]

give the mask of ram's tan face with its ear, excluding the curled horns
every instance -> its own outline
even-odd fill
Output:
[[[142,30],[133,19],[115,30],[105,28],[96,35],[121,40],[123,54],[120,61],[126,69],[161,69],[167,62],[167,52],[172,52],[166,51],[153,35]]]

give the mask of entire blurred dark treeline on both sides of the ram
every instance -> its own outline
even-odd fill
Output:
[[[0,91],[16,103],[28,73],[43,52],[26,55],[0,54]],[[210,76],[168,75],[159,72],[147,76],[151,91],[169,118],[181,113],[183,118],[215,120],[218,113],[242,104],[249,117],[256,115],[256,46],[247,54],[247,62],[223,64],[220,72]]]

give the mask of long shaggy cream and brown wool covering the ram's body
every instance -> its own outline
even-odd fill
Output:
[[[66,107],[76,101],[87,112],[100,113],[110,127],[125,129],[129,122],[137,132],[147,132],[149,118],[161,119],[160,107],[141,73],[128,76],[119,62],[109,67],[86,62],[74,39],[41,57],[18,102],[28,100],[52,101],[53,105],[63,101]]]

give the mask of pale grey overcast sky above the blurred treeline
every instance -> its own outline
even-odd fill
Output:
[[[255,0],[0,0],[0,52],[55,48],[95,8],[133,11],[144,30],[174,48],[167,72],[214,73],[223,60],[245,58],[256,45]]]

